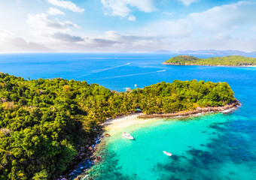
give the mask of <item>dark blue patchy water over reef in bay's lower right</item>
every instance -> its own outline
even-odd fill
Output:
[[[239,174],[238,166],[253,169],[256,162],[254,151],[248,143],[255,143],[255,124],[252,121],[236,120],[215,123],[209,127],[217,130],[217,137],[201,145],[206,146],[207,150],[190,147],[185,153],[187,157],[173,155],[168,163],[158,163],[153,169],[160,174],[158,179],[253,179],[251,175],[247,177],[246,174]],[[225,163],[234,168],[223,169]],[[224,172],[224,176],[221,172]]]

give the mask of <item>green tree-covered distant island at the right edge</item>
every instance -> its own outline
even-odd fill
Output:
[[[255,66],[256,58],[239,55],[228,55],[215,58],[196,58],[190,55],[178,55],[170,58],[165,63],[170,65],[224,65],[224,66]]]

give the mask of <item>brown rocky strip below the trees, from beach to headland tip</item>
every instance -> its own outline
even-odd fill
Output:
[[[239,101],[233,101],[230,104],[226,104],[223,107],[197,107],[197,110],[191,111],[183,111],[178,113],[168,113],[168,114],[151,114],[151,115],[139,115],[138,118],[175,118],[179,116],[189,116],[189,115],[197,115],[200,113],[216,113],[216,112],[224,112],[225,110],[232,110],[233,108],[237,108],[241,106]]]

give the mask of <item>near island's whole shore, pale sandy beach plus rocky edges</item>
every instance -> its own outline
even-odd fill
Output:
[[[203,107],[203,108],[197,108],[197,110],[191,110],[191,111],[183,111],[178,113],[167,113],[167,114],[151,114],[146,115],[143,113],[131,113],[130,115],[120,115],[116,118],[108,118],[106,121],[99,124],[99,134],[96,139],[99,139],[99,142],[102,138],[108,138],[106,134],[109,136],[112,136],[116,133],[120,133],[120,131],[123,131],[126,127],[130,127],[132,125],[136,124],[145,124],[150,123],[152,121],[157,121],[160,118],[188,118],[191,116],[198,116],[198,115],[205,115],[207,113],[230,113],[237,109],[237,107],[241,106],[239,101],[233,101],[230,104],[227,104],[223,107]],[[97,140],[96,140],[97,141]],[[94,143],[87,145],[87,147],[83,147],[84,151],[80,151],[78,153],[77,157],[80,156],[81,153],[83,153],[86,157],[85,160],[81,160],[84,162],[90,162],[91,165],[95,162],[100,162],[101,157],[98,157],[96,155],[96,151],[98,148],[99,142],[93,141]],[[88,150],[87,150],[88,149]],[[87,152],[86,152],[87,151]],[[76,169],[81,168],[81,163],[76,166]],[[90,169],[90,166],[84,166],[81,173],[78,173],[77,175],[73,176],[73,179],[81,179],[86,175],[87,170]],[[72,170],[72,172],[77,172],[76,170]],[[67,179],[70,179],[72,174],[66,174],[62,177],[66,177]]]

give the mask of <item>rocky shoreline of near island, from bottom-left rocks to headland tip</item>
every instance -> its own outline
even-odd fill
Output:
[[[227,104],[223,107],[198,107],[197,110],[191,110],[191,111],[184,111],[184,112],[178,112],[178,113],[168,113],[168,114],[151,114],[146,115],[143,113],[132,113],[130,115],[120,115],[117,118],[110,118],[107,119],[102,124],[99,124],[99,126],[95,127],[96,131],[98,132],[97,136],[94,140],[92,140],[88,145],[81,147],[80,151],[78,151],[78,154],[73,158],[72,164],[77,164],[74,166],[75,168],[69,170],[69,173],[66,172],[66,175],[62,175],[58,178],[58,180],[66,180],[66,179],[81,179],[86,173],[87,169],[90,169],[90,166],[93,166],[93,163],[99,162],[101,159],[100,157],[96,156],[94,152],[96,151],[97,147],[96,144],[100,142],[100,139],[103,136],[110,136],[108,133],[105,133],[104,128],[107,127],[110,124],[118,123],[121,121],[126,120],[126,118],[178,118],[178,117],[187,117],[190,115],[197,115],[200,113],[215,113],[220,112],[223,113],[226,110],[232,110],[236,109],[237,107],[241,106],[239,101],[233,101],[230,102],[230,104]],[[105,133],[105,134],[104,134]],[[104,135],[103,135],[104,134]],[[76,163],[75,163],[76,162]],[[70,166],[71,164],[69,164]]]

